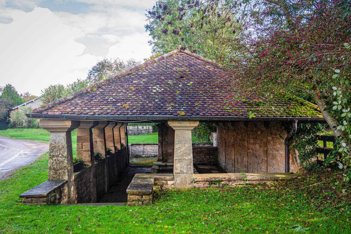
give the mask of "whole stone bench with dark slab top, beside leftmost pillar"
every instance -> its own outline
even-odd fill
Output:
[[[67,203],[67,198],[61,196],[66,194],[65,190],[67,190],[67,180],[47,180],[22,193],[20,198],[23,198],[24,203],[36,205]]]

